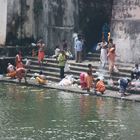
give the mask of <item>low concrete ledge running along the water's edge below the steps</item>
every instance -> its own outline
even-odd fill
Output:
[[[40,87],[40,88],[48,88],[48,89],[57,89],[57,90],[76,93],[76,94],[83,94],[83,95],[85,94],[85,95],[91,95],[91,96],[100,96],[100,97],[127,100],[127,101],[132,101],[132,102],[140,102],[140,94],[139,95],[129,94],[122,98],[121,95],[118,93],[118,91],[106,90],[105,94],[96,95],[93,92],[87,92],[87,91],[81,90],[77,86],[59,86],[57,83],[54,83],[54,82],[51,82],[51,83],[48,82],[48,84],[40,85],[40,84],[37,84],[33,80],[28,80],[28,84],[24,82],[19,84],[16,79],[8,79],[8,78],[1,78],[0,82],[13,83],[13,84],[24,85],[24,86],[26,85],[26,86],[34,86],[34,87]]]

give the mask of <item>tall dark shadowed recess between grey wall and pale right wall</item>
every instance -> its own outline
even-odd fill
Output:
[[[102,28],[110,25],[113,0],[80,0],[79,27],[85,36],[88,51],[94,51],[102,39]]]

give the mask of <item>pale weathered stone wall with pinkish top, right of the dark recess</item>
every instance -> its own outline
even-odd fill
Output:
[[[118,60],[140,62],[140,1],[114,0],[111,36]]]

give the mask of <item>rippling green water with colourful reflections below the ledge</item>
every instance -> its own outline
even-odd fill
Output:
[[[0,83],[0,140],[139,140],[140,103]]]

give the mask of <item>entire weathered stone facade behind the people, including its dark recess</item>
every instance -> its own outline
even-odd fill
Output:
[[[92,50],[107,22],[118,60],[140,61],[139,0],[2,0],[1,10],[0,44],[6,40],[8,45],[25,46],[43,38],[52,53],[63,39],[72,48],[72,34],[80,31]]]

